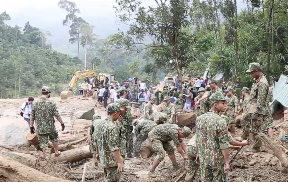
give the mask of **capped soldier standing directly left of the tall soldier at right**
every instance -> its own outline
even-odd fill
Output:
[[[250,131],[250,114],[247,112],[249,108],[249,88],[243,87],[241,92],[243,96],[243,107],[237,113],[239,114],[243,111],[241,117],[241,128],[243,130],[243,133],[241,135],[241,138],[247,139],[249,138]]]

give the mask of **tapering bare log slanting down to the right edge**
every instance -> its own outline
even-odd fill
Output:
[[[266,143],[266,145],[273,151],[275,156],[280,160],[281,164],[288,170],[288,157],[285,154],[285,148],[279,145],[274,140],[270,139],[264,133],[258,133],[258,137]]]

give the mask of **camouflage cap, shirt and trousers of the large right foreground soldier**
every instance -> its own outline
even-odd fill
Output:
[[[211,103],[225,100],[219,93],[212,94],[209,99]],[[196,123],[200,181],[225,181],[225,162],[221,150],[229,148],[226,121],[216,111],[210,110],[197,117]]]

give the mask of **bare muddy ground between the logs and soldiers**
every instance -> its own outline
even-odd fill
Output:
[[[36,98],[35,101],[37,101]],[[70,126],[70,115],[79,115],[84,111],[89,110],[91,107],[95,108],[95,113],[99,113],[102,117],[106,116],[106,112],[103,108],[95,107],[94,100],[82,100],[77,97],[69,98],[65,101],[61,101],[60,97],[50,98],[56,102],[57,107],[59,108],[60,114],[69,129]],[[19,109],[23,102],[27,101],[25,99],[0,99],[0,114],[2,115],[0,120],[1,122],[18,122],[18,124],[23,125],[25,127],[26,121],[22,117],[20,117]],[[24,124],[23,124],[23,123]],[[60,124],[56,122],[56,126],[60,128]],[[190,135],[193,136],[194,133]],[[240,135],[240,129],[237,129],[236,135]],[[277,131],[276,131],[277,134]],[[276,140],[277,137],[275,137]],[[189,139],[185,139],[184,142],[187,144]],[[147,141],[146,141],[147,143]],[[173,142],[171,142],[173,143]],[[249,148],[253,144],[253,141],[249,142],[244,148]],[[145,145],[145,144],[144,144]],[[52,164],[52,162],[46,162],[43,160],[43,154],[40,151],[36,151],[33,145],[31,147],[24,147],[24,145],[17,145],[18,151],[30,151],[31,154],[38,159],[37,164],[32,166],[43,173],[60,177],[63,179],[68,179],[71,181],[81,181],[81,174],[71,174],[71,171],[83,171],[84,164],[87,162],[86,171],[103,171],[101,166],[94,166],[92,159],[85,159],[80,162],[74,163],[58,163]],[[236,151],[230,150],[230,156],[233,156]],[[131,181],[131,182],[145,182],[145,181],[165,181],[165,182],[175,182],[175,181],[184,181],[185,172],[188,170],[187,161],[183,160],[181,155],[177,152],[175,148],[175,155],[179,165],[181,165],[181,169],[173,170],[171,161],[168,156],[165,157],[164,161],[159,164],[156,168],[156,175],[158,176],[156,179],[151,179],[148,177],[148,172],[150,170],[150,166],[153,162],[154,155],[150,158],[134,158],[130,160],[125,160],[125,170],[127,172],[134,172],[140,177],[136,177],[134,175],[122,175],[120,181]],[[267,157],[270,157],[271,160],[268,164],[264,164],[264,161]],[[100,163],[98,163],[100,165]],[[278,158],[274,156],[274,153],[263,144],[262,152],[260,153],[250,153],[241,151],[236,159],[231,163],[231,170],[229,173],[229,181],[233,182],[279,182],[279,181],[288,181],[288,176],[285,173],[285,168],[281,166]],[[9,179],[5,179],[5,177],[0,174],[0,181],[9,181]],[[86,174],[85,181],[104,181],[103,174]],[[198,181],[198,177],[196,177],[195,181]]]

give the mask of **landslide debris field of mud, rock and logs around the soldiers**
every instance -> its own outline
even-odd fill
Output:
[[[38,99],[39,98],[35,98],[35,101]],[[83,172],[85,163],[87,165],[85,181],[104,181],[104,175],[101,173],[103,169],[100,163],[98,163],[98,166],[94,166],[92,155],[88,148],[91,140],[89,136],[91,121],[87,117],[95,111],[95,113],[100,113],[104,118],[106,111],[104,111],[102,107],[95,107],[94,100],[82,100],[78,97],[68,98],[64,101],[61,101],[60,97],[50,99],[56,102],[66,128],[59,134],[59,150],[62,151],[62,154],[57,159],[55,159],[52,154],[49,160],[46,160],[43,153],[37,150],[33,144],[31,146],[27,145],[26,135],[29,132],[29,127],[19,114],[20,106],[27,101],[27,98],[13,100],[0,99],[0,181],[81,181],[82,173],[80,172]],[[93,108],[94,111],[91,110]],[[138,115],[137,109],[133,109],[133,112],[134,116]],[[82,118],[79,119],[80,117]],[[56,127],[60,129],[60,124],[57,121]],[[21,130],[23,128],[25,130]],[[23,134],[19,134],[20,131],[17,130],[21,130]],[[236,134],[240,135],[240,133],[240,129],[237,129]],[[250,153],[240,151],[235,160],[230,164],[229,181],[288,181],[288,175],[285,173],[285,167],[287,168],[285,151],[288,149],[288,145],[280,141],[281,137],[287,133],[287,122],[282,122],[278,124],[274,130],[275,135],[273,141],[263,142],[262,152]],[[194,130],[189,138],[193,135]],[[21,139],[17,140],[17,137],[21,137]],[[10,143],[5,142],[5,138],[9,139]],[[188,141],[188,138],[185,139],[185,144],[187,144]],[[173,142],[171,143],[173,144]],[[253,141],[249,141],[249,145],[243,149],[251,147],[252,143]],[[53,150],[51,150],[51,153],[52,152]],[[188,163],[183,160],[176,148],[175,155],[181,169],[173,170],[171,161],[168,156],[166,156],[164,161],[161,162],[155,170],[157,175],[156,179],[148,177],[150,166],[155,155],[153,151],[151,151],[151,147],[147,141],[142,144],[141,152],[146,153],[147,156],[152,156],[149,158],[125,160],[125,172],[130,174],[123,174],[120,181],[184,181],[185,174],[188,171]],[[230,158],[232,158],[235,153],[236,151],[230,149]],[[281,155],[282,158],[280,161],[278,158]],[[79,174],[76,172],[79,172]],[[89,172],[94,172],[94,174]],[[198,181],[198,176],[195,181]]]

